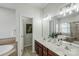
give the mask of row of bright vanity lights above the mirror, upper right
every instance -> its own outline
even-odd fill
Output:
[[[61,8],[61,11],[59,12],[59,16],[66,16],[71,15],[75,12],[79,12],[78,5],[76,3],[68,3],[66,6]]]

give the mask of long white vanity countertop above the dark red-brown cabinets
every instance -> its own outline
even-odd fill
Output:
[[[39,42],[52,52],[55,52],[59,56],[79,56],[79,45],[75,43],[69,43],[66,41],[62,41],[62,45],[58,45],[58,43],[48,42],[47,40],[43,39],[36,39],[35,41]]]

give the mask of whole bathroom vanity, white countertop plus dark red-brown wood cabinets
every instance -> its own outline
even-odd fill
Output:
[[[79,56],[78,44],[62,41],[58,43],[47,40],[35,40],[35,51],[39,56]]]

